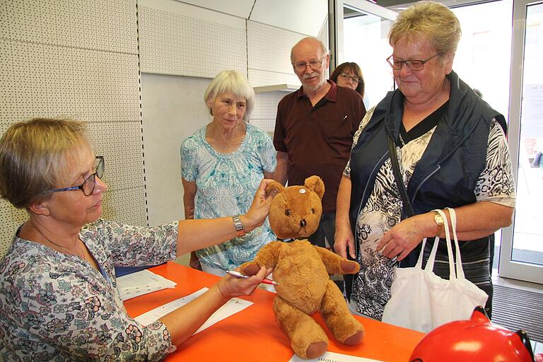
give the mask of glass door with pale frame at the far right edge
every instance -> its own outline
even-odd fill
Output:
[[[514,1],[509,147],[517,187],[498,273],[543,284],[543,4]]]

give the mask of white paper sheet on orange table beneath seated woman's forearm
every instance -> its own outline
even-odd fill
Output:
[[[182,305],[185,305],[189,303],[191,300],[194,300],[195,298],[201,296],[207,290],[209,290],[209,288],[202,288],[199,291],[195,291],[194,293],[190,294],[189,296],[185,296],[183,298],[173,300],[173,302],[167,303],[165,305],[160,305],[160,307],[158,308],[149,310],[147,313],[144,313],[134,319],[137,322],[141,323],[142,325],[149,325],[152,322],[158,320],[158,318],[163,317],[164,315],[167,315],[173,310],[176,310],[177,308],[180,308]],[[249,302],[247,300],[243,300],[240,298],[232,298],[228,300],[228,302],[225,305],[223,305],[221,308],[218,308],[218,310],[216,310],[216,312],[213,313],[211,317],[209,317],[209,319],[206,320],[204,325],[202,325],[202,327],[200,327],[196,332],[194,332],[194,334],[197,334],[198,332],[206,329],[207,327],[211,327],[216,322],[219,322],[227,317],[230,317],[230,315],[233,315],[235,313],[240,312],[241,310],[244,310],[249,305],[252,305],[252,302]]]

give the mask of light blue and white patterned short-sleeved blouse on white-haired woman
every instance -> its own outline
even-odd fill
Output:
[[[181,174],[196,182],[194,218],[218,218],[245,214],[251,206],[264,172],[277,164],[270,137],[247,124],[245,139],[233,153],[218,153],[206,141],[206,127],[189,136],[181,145]],[[266,218],[264,224],[226,243],[197,250],[209,267],[235,269],[252,260],[257,251],[276,240]]]

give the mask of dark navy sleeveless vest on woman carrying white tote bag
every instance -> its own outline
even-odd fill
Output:
[[[454,71],[448,75],[448,79],[448,111],[439,120],[407,185],[407,194],[415,214],[476,202],[474,190],[486,165],[491,120],[499,118],[500,124],[505,124],[503,116],[482,101]],[[370,122],[351,152],[350,218],[355,238],[358,213],[373,191],[375,177],[381,166],[390,158],[387,137],[390,134],[392,139],[398,139],[403,100],[404,96],[399,90],[389,92],[375,107]],[[402,214],[402,218],[405,215]],[[358,247],[358,240],[355,244]],[[433,239],[428,238],[425,262],[432,245]],[[473,243],[460,243],[460,251],[462,262],[488,258],[489,237]],[[420,244],[405,262],[402,261],[401,266],[413,267],[419,252]],[[438,246],[436,259],[447,260],[444,240]]]

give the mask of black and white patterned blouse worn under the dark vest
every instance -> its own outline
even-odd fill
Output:
[[[397,154],[406,187],[436,129],[437,120],[443,115],[447,105],[448,103],[445,103],[409,132],[405,132],[405,129],[401,130]],[[375,108],[369,110],[361,122],[354,135],[353,147],[370,121],[374,110]],[[350,173],[351,168],[348,163],[344,175],[350,177]],[[506,136],[495,119],[491,122],[489,132],[486,167],[479,176],[474,191],[477,202],[486,201],[515,206],[515,187],[509,149]],[[357,261],[361,265],[361,270],[354,276],[351,293],[351,299],[356,303],[358,312],[378,320],[383,316],[385,304],[390,299],[390,286],[394,280],[394,268],[397,262],[395,259],[379,255],[375,248],[385,232],[401,221],[401,215],[402,199],[399,197],[389,158],[380,168],[373,192],[356,221],[356,239],[359,240]],[[488,265],[490,261],[487,257],[486,260],[480,262]],[[469,266],[465,267],[465,271],[466,274],[469,273]],[[490,284],[491,280],[489,276],[486,276],[479,281],[475,280],[474,283],[481,287],[484,284]]]

